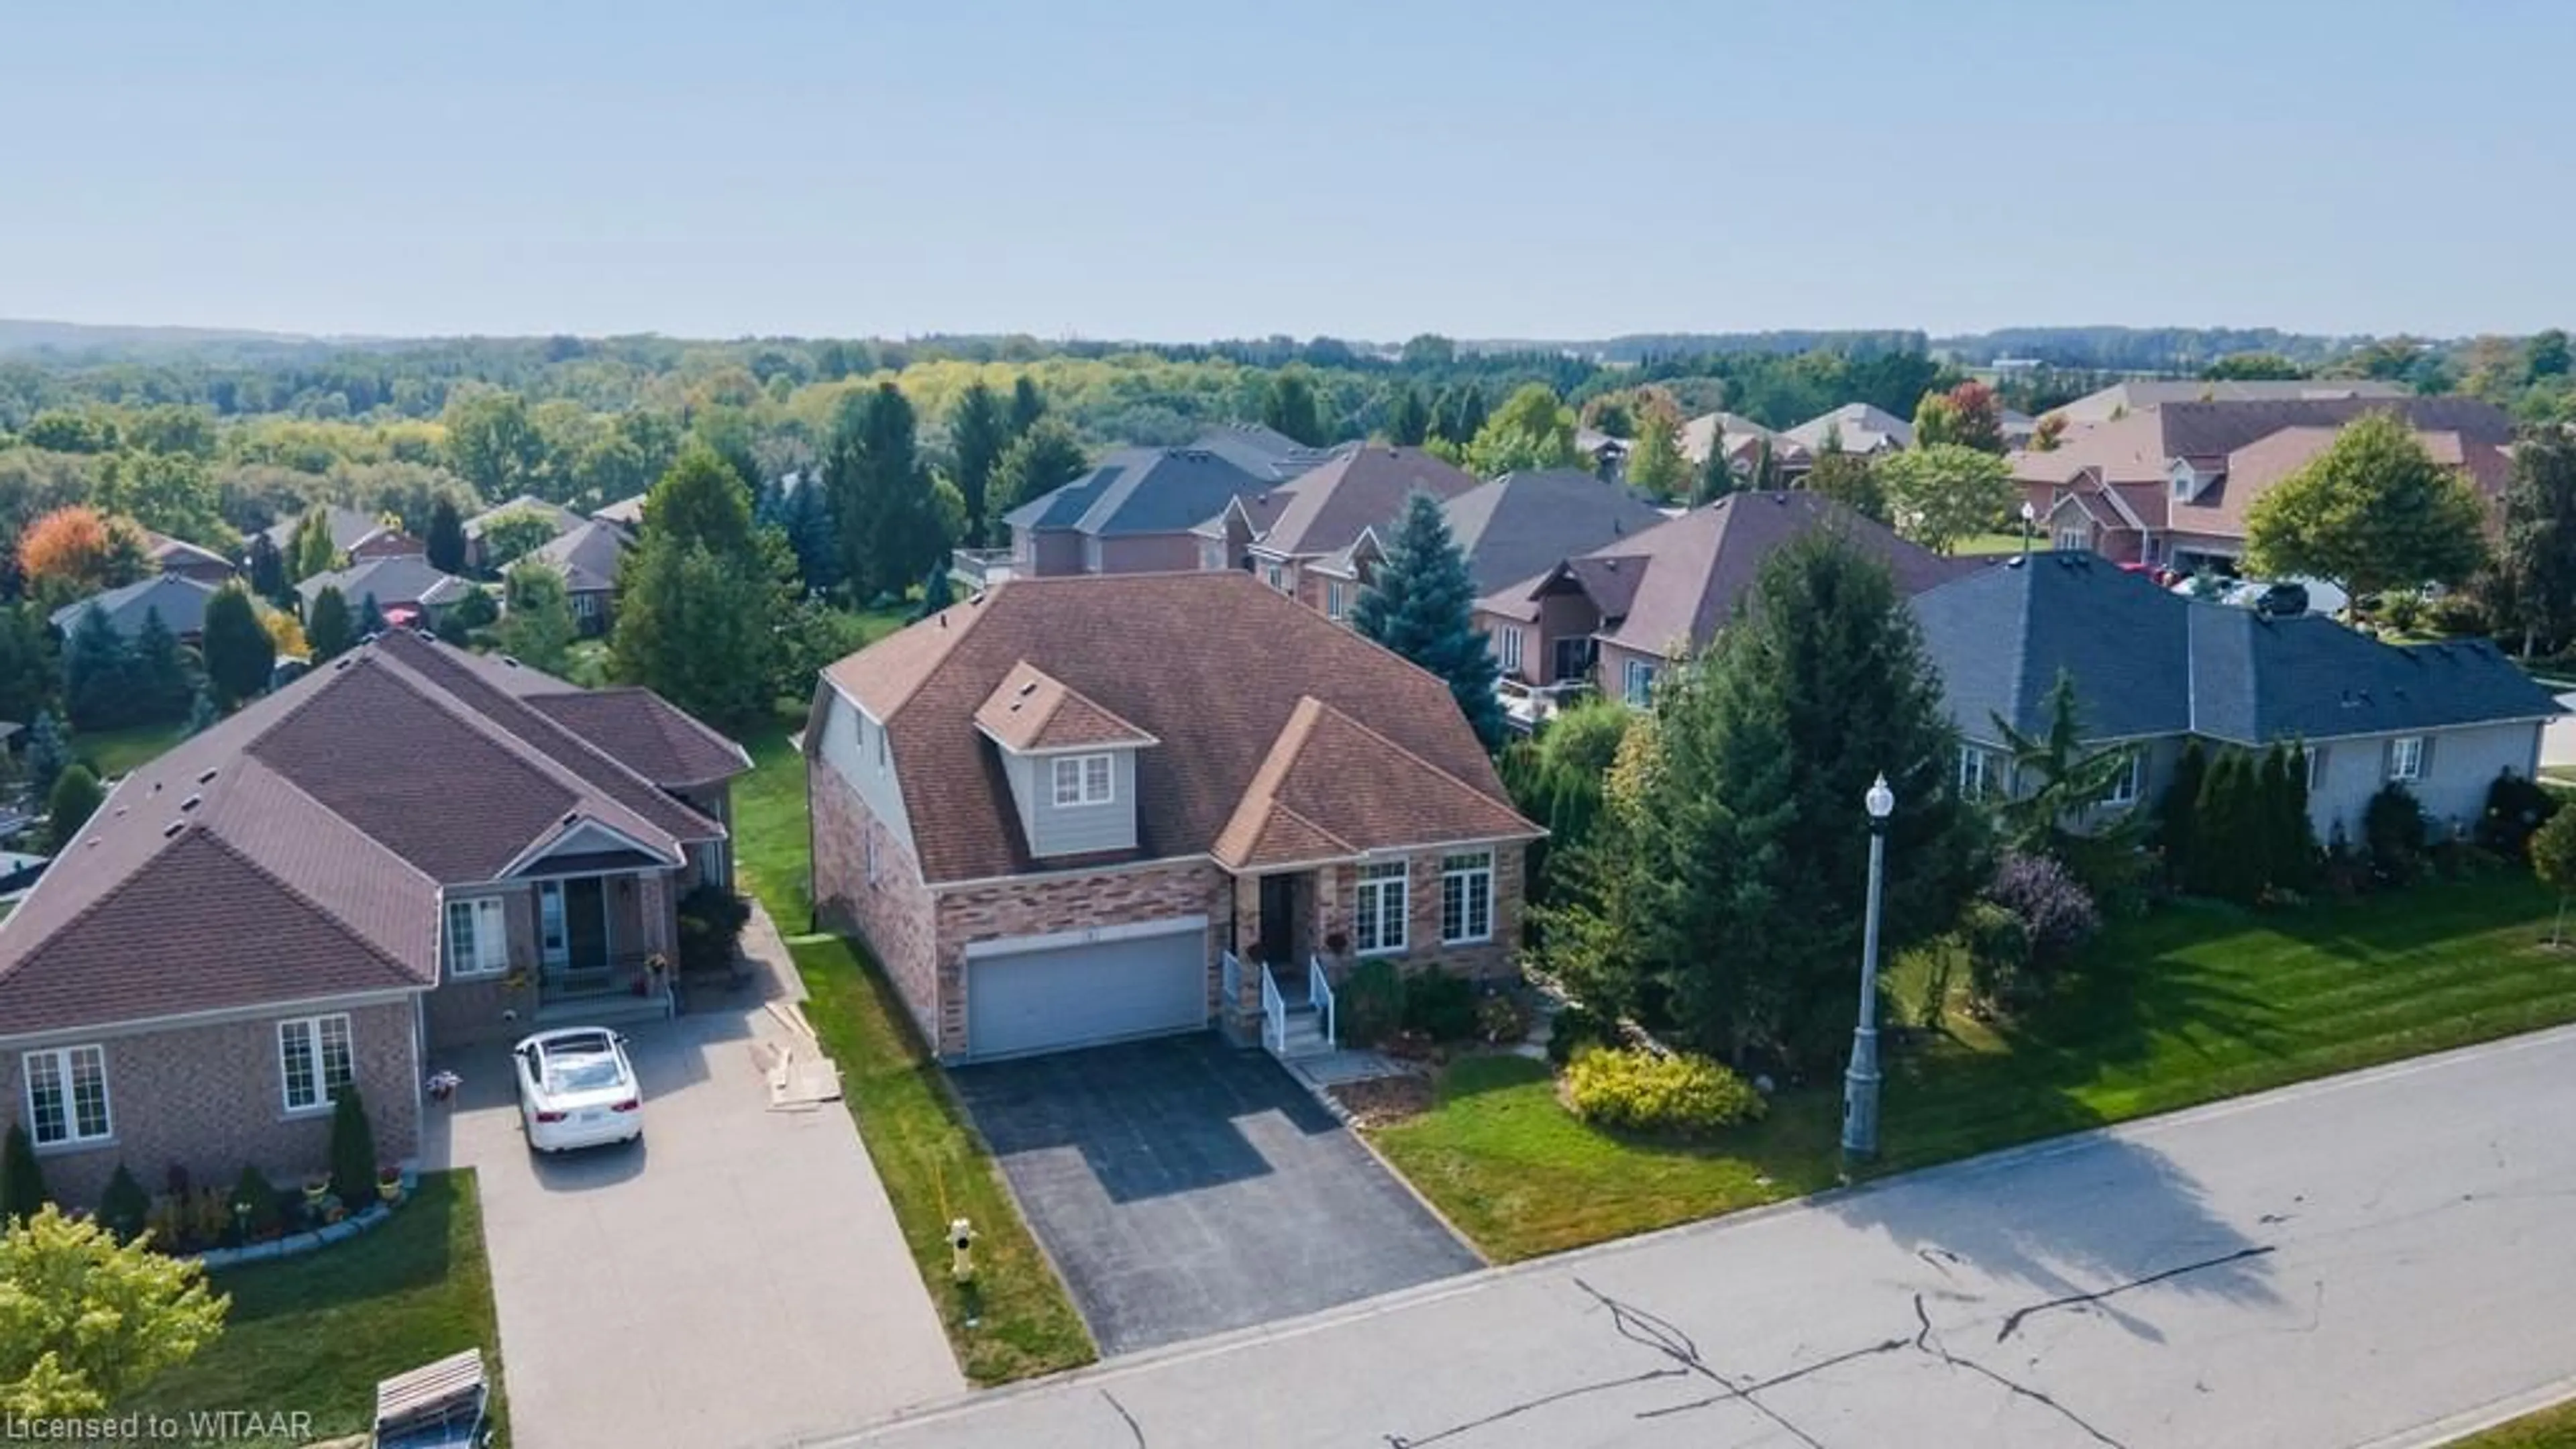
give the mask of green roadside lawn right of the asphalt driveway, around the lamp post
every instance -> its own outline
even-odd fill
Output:
[[[2303,1078],[2576,1021],[2576,951],[2527,877],[2300,913],[2179,902],[2115,926],[2089,969],[2007,1029],[1953,1018],[1886,1062],[1886,1158],[1919,1168]],[[1546,1067],[1471,1057],[1378,1147],[1497,1261],[1600,1243],[1834,1181],[1839,1078],[1785,1091],[1710,1147],[1577,1124]]]

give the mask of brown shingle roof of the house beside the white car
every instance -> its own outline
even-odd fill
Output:
[[[129,773],[0,926],[0,1036],[428,987],[443,884],[721,835],[453,657],[384,634]]]

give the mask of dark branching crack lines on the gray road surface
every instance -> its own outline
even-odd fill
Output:
[[[2210,1269],[2223,1269],[2228,1263],[2244,1263],[2249,1258],[2262,1258],[2262,1256],[2267,1256],[2272,1250],[2275,1248],[2269,1243],[2262,1243],[2262,1245],[2251,1245],[2251,1248],[2239,1248],[2233,1253],[2221,1253],[2215,1258],[2197,1258],[2192,1263],[2179,1263],[2179,1266],[2172,1266],[2172,1269],[2161,1269],[2156,1274],[2125,1279],[2125,1281],[2117,1281],[2117,1284],[2110,1284],[2110,1287],[2102,1287],[2102,1289],[2092,1289],[2092,1292],[2081,1292],[2081,1294],[2066,1294],[2066,1297],[2053,1297],[2053,1299],[2040,1299],[2040,1302],[2032,1302],[2032,1305],[2022,1305],[2022,1307],[2012,1310],[2009,1315],[2004,1315],[2004,1325],[1994,1336],[1994,1341],[2002,1343],[2002,1341],[2012,1338],[2022,1328],[2022,1323],[2027,1323],[2030,1318],[2038,1318],[2043,1312],[2056,1312],[2056,1310],[2066,1310],[2066,1307],[2094,1305],[2094,1302],[2102,1302],[2102,1299],[2110,1299],[2110,1297],[2117,1297],[2117,1294],[2125,1294],[2125,1292],[2133,1292],[2133,1289],[2143,1289],[2143,1287],[2151,1287],[2151,1284],[2172,1281],[2172,1279],[2179,1279],[2179,1276],[2187,1276],[2187,1274],[2205,1274]],[[1960,1263],[1963,1258],[1958,1253],[1945,1250],[1945,1248],[1932,1248],[1932,1250],[1924,1250],[1924,1261],[1932,1263],[1935,1269],[1940,1269],[1942,1276],[1947,1276],[1947,1269],[1942,1269],[1942,1261]],[[2094,1444],[2105,1444],[2107,1449],[2128,1449],[2125,1444],[2120,1444],[2117,1439],[2112,1439],[2110,1434],[2105,1434],[2099,1426],[2094,1426],[2092,1421],[2087,1421],[2076,1410],[2071,1410],[2063,1403],[2058,1403],[2045,1390],[2035,1390],[2035,1387],[2030,1387],[2025,1382],[2012,1379],[2009,1374],[2002,1374],[2002,1372],[1996,1372],[1996,1369],[1991,1369],[1986,1364],[1978,1364],[1976,1359],[1963,1359],[1963,1356],[1953,1354],[1940,1341],[1940,1333],[1932,1328],[1932,1310],[1924,1305],[1924,1294],[1919,1294],[1919,1292],[1914,1294],[1914,1333],[1911,1336],[1883,1338],[1883,1341],[1868,1343],[1862,1348],[1847,1348],[1842,1354],[1826,1354],[1821,1359],[1806,1361],[1806,1364],[1801,1364],[1795,1369],[1785,1369],[1785,1372],[1772,1374],[1767,1379],[1741,1379],[1739,1382],[1739,1379],[1731,1379],[1731,1377],[1721,1374],[1705,1359],[1700,1359],[1698,1341],[1692,1341],[1690,1333],[1685,1333],[1672,1320],[1659,1318],[1659,1315],[1654,1315],[1654,1312],[1649,1312],[1649,1310],[1643,1310],[1643,1307],[1638,1307],[1633,1302],[1615,1299],[1615,1297],[1600,1292],[1597,1287],[1592,1287],[1584,1279],[1571,1279],[1571,1281],[1574,1281],[1577,1289],[1584,1292],[1584,1297],[1589,1297],[1595,1305],[1600,1305],[1600,1307],[1605,1307],[1610,1312],[1610,1328],[1613,1328],[1613,1333],[1618,1333],[1620,1338],[1625,1338],[1625,1341],[1631,1341],[1631,1343],[1636,1343],[1641,1348],[1651,1348],[1654,1354],[1669,1359],[1672,1364],[1664,1366],[1664,1369],[1646,1369],[1641,1374],[1620,1374],[1620,1377],[1607,1377],[1607,1379],[1592,1379],[1592,1382],[1574,1385],[1574,1387],[1566,1387],[1566,1390],[1553,1390],[1553,1392],[1546,1392],[1546,1395],[1517,1400],[1517,1403],[1510,1403],[1510,1405],[1504,1405],[1504,1408],[1499,1408],[1494,1413],[1484,1413],[1479,1418],[1468,1418],[1468,1421],[1461,1421],[1461,1423],[1453,1423],[1448,1428],[1440,1428],[1440,1431],[1432,1431],[1432,1434],[1422,1434],[1422,1436],[1386,1434],[1383,1436],[1386,1439],[1386,1449],[1427,1449],[1432,1444],[1463,1439],[1463,1436],[1471,1436],[1471,1434],[1476,1434],[1481,1428],[1492,1428],[1497,1423],[1504,1423],[1510,1418],[1520,1418],[1525,1413],[1535,1413],[1540,1408],[1551,1408],[1551,1405],[1558,1405],[1558,1403],[1569,1403],[1569,1400],[1579,1400],[1579,1397],[1589,1397],[1589,1395],[1602,1395],[1602,1392],[1613,1392],[1613,1390],[1628,1390],[1628,1387],[1654,1385],[1654,1382],[1662,1382],[1662,1379],[1705,1379],[1705,1382],[1716,1385],[1723,1392],[1713,1392],[1713,1395],[1705,1395],[1705,1397],[1695,1397],[1695,1400],[1687,1400],[1687,1403],[1672,1403],[1672,1405],[1662,1405],[1662,1408],[1631,1410],[1633,1421],[1672,1418],[1672,1415],[1695,1413],[1695,1410],[1703,1410],[1703,1408],[1716,1408],[1716,1405],[1723,1405],[1723,1403],[1741,1403],[1741,1405],[1752,1408],[1754,1413],[1770,1418],[1775,1426],[1780,1426],[1785,1434],[1790,1434],[1793,1439],[1798,1439],[1808,1449],[1824,1449],[1824,1444],[1816,1436],[1811,1436],[1806,1428],[1801,1428],[1798,1423],[1793,1423],[1790,1418],[1785,1418],[1777,1408],[1762,1403],[1759,1395],[1765,1395],[1770,1390],[1777,1390],[1783,1385],[1793,1385],[1793,1382],[1806,1379],[1811,1374],[1821,1374],[1826,1369],[1839,1369],[1842,1364],[1855,1364],[1855,1361],[1862,1361],[1862,1359],[1878,1359],[1883,1354],[1901,1354],[1901,1351],[1909,1351],[1909,1348],[1917,1351],[1917,1354],[1924,1354],[1927,1359],[1935,1359],[1935,1361],[1940,1361],[1940,1364],[1945,1364],[1950,1369],[1960,1369],[1960,1372],[1976,1374],[1976,1377],[1981,1377],[1981,1379],[2002,1387],[2012,1397],[2030,1400],[2030,1403],[2035,1403],[2035,1405],[2056,1413],[2058,1418],[2063,1418],[2069,1426],[2079,1428]],[[1118,1405],[1118,1400],[1110,1400],[1110,1405]],[[1126,1415],[1123,1408],[1118,1413]],[[1133,1418],[1128,1418],[1128,1428],[1136,1428]],[[1144,1431],[1141,1428],[1136,1431],[1136,1444],[1139,1444],[1139,1449],[1144,1446]]]

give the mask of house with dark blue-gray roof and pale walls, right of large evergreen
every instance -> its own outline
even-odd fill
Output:
[[[2089,745],[2133,766],[2105,804],[2154,802],[2187,740],[2308,750],[2318,841],[2360,841],[2362,810],[2403,784],[2445,830],[2470,828],[2499,773],[2535,779],[2548,688],[2494,645],[2380,645],[2324,616],[2200,603],[2084,552],[2030,554],[1919,593],[1914,616],[1960,730],[1960,784],[2007,792],[1996,717],[2048,730],[2074,678]]]

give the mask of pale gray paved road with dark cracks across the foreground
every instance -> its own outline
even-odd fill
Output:
[[[2576,1031],[1479,1274],[899,1449],[2396,1446],[2576,1392]]]

